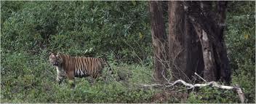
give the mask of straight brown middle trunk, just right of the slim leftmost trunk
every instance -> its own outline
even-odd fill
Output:
[[[169,1],[169,56],[172,79],[190,80],[187,71],[188,52],[186,49],[187,28],[185,12],[181,1]]]

